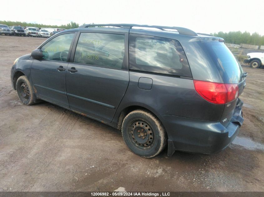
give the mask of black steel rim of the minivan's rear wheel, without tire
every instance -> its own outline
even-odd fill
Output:
[[[151,126],[144,120],[135,120],[128,127],[128,136],[132,144],[141,150],[152,148],[155,136]]]

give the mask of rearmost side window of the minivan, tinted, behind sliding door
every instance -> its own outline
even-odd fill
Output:
[[[192,77],[185,53],[177,40],[130,34],[129,42],[130,69]]]

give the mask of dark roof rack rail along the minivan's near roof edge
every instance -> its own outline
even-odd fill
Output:
[[[169,26],[155,26],[155,25],[137,25],[137,24],[85,24],[79,26],[79,28],[87,28],[87,27],[94,27],[94,26],[112,26],[112,27],[120,27],[124,29],[132,29],[132,27],[149,27],[149,28],[157,28],[163,31],[166,31],[165,29],[172,29],[177,30],[179,34],[181,35],[192,35],[197,36],[197,33],[184,28],[184,27],[169,27]]]

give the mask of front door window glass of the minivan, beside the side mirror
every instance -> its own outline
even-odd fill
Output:
[[[67,61],[74,33],[59,35],[41,47],[43,59]]]

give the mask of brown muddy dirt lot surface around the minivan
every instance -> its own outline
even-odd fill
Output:
[[[264,191],[264,69],[243,67],[245,121],[227,149],[146,159],[117,129],[47,102],[21,104],[10,68],[44,40],[0,36],[0,191]]]

